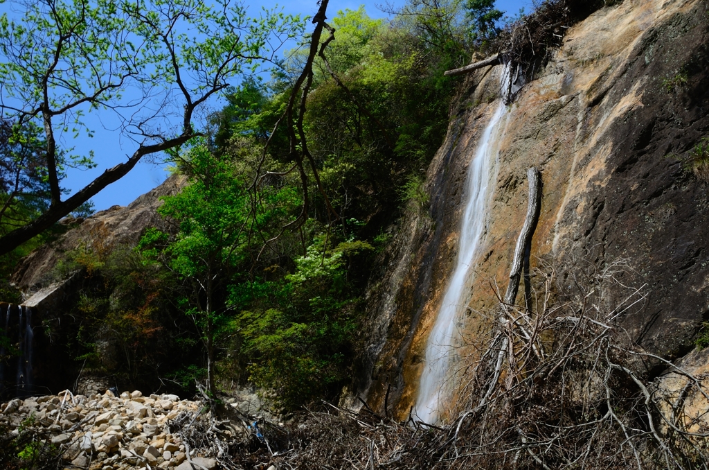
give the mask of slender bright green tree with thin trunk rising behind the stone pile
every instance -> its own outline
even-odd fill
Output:
[[[248,203],[228,162],[216,158],[204,143],[192,146],[181,166],[191,184],[178,195],[164,198],[158,209],[174,224],[177,235],[170,238],[152,229],[142,244],[167,242],[160,257],[182,280],[182,308],[201,329],[208,390],[213,393],[214,344],[224,313],[217,294],[240,254]]]

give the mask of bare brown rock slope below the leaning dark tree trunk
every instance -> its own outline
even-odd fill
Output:
[[[173,175],[126,207],[113,206],[96,212],[62,234],[59,239],[23,258],[13,273],[12,282],[25,293],[33,293],[42,287],[45,276],[62,258],[63,253],[74,250],[81,244],[99,249],[119,244],[135,244],[147,227],[164,226],[164,219],[156,212],[162,204],[160,197],[173,195],[183,185],[184,178]],[[79,221],[65,219],[65,222]]]

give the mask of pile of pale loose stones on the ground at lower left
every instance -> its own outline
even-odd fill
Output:
[[[62,452],[65,469],[213,470],[216,460],[194,450],[188,459],[189,449],[167,426],[181,412],[196,413],[200,408],[199,402],[180,400],[177,395],[147,397],[136,390],[116,397],[108,390],[87,397],[67,390],[4,403],[0,419],[15,434],[28,423],[41,426]]]

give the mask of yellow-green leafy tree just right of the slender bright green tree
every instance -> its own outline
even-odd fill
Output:
[[[281,282],[261,283],[272,291],[267,308],[243,310],[235,319],[250,380],[273,390],[286,408],[336,397],[351,372],[359,320],[357,283],[348,274],[374,248],[352,240],[328,249],[327,240],[317,236]],[[235,287],[233,302],[244,294],[242,286]]]

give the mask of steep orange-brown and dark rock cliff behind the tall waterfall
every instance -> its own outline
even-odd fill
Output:
[[[647,300],[621,319],[623,327],[669,359],[691,349],[709,317],[709,202],[707,183],[683,159],[709,134],[708,45],[709,11],[699,0],[626,0],[568,31],[509,106],[471,285],[474,311],[497,304],[495,283],[506,288],[527,205],[525,172],[535,165],[543,187],[532,267],[537,258],[564,260],[579,249],[598,263],[629,259],[637,287],[647,283]],[[464,176],[493,111],[500,69],[466,79],[464,111],[453,116],[429,169],[429,213],[406,222],[398,254],[390,253],[372,290],[376,333],[360,391],[375,409],[384,407],[387,389],[400,417],[413,404],[457,254]],[[467,334],[484,327],[475,314],[462,324]]]

